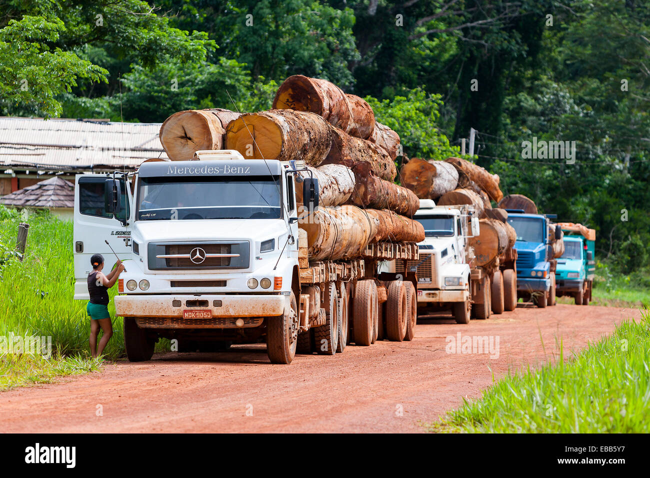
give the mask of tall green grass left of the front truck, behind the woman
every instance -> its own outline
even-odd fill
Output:
[[[22,262],[12,252],[21,221],[30,225]],[[0,375],[5,375],[0,377],[0,390],[5,382],[29,383],[30,377],[48,380],[96,369],[96,365],[84,362],[90,360],[90,317],[86,315],[86,300],[73,300],[72,248],[71,221],[62,221],[49,211],[31,213],[26,219],[19,211],[0,206],[0,337],[51,337],[52,345],[49,360],[27,358],[26,354],[16,360],[15,354],[0,349]],[[112,302],[116,291],[117,287],[109,291],[114,333],[104,350],[108,360],[125,356],[122,318],[115,317]],[[156,345],[157,351],[168,348],[168,341]]]

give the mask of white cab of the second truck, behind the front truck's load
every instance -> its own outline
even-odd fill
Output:
[[[429,310],[451,309],[456,321],[469,322],[471,308],[468,238],[478,235],[478,219],[471,207],[435,206],[420,200],[413,219],[424,226],[419,259],[408,261],[406,272],[417,272],[417,301]],[[400,271],[397,271],[400,272]]]

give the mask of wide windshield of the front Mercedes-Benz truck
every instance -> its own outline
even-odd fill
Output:
[[[138,220],[279,219],[278,176],[140,178]]]

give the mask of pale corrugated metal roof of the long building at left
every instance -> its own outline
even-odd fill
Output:
[[[160,123],[0,117],[0,167],[129,168],[166,158]]]

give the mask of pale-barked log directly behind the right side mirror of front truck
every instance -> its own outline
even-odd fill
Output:
[[[355,176],[350,168],[343,165],[324,165],[318,166],[318,168],[307,166],[307,169],[311,171],[311,176],[306,171],[297,174],[302,178],[318,179],[320,206],[334,207],[348,202],[350,194],[354,191],[355,183]],[[302,183],[296,183],[295,191],[296,202],[302,204]]]

